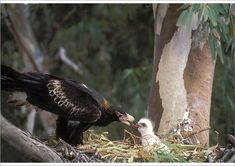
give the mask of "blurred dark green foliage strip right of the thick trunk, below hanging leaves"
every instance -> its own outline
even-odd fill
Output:
[[[234,134],[234,56],[225,57],[224,65],[216,64],[211,105],[211,127],[218,131],[219,141],[226,142],[227,134]],[[211,143],[217,142],[217,134],[211,133]]]

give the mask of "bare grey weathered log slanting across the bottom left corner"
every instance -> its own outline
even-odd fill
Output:
[[[24,153],[32,161],[63,162],[54,150],[31,138],[30,134],[25,133],[9,123],[1,114],[0,118],[1,137],[10,145]]]

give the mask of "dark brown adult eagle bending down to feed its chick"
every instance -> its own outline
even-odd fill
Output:
[[[83,144],[83,132],[91,126],[106,126],[114,121],[130,125],[134,121],[85,84],[49,74],[19,73],[1,65],[1,88],[25,92],[29,103],[57,114],[56,136],[72,145]]]

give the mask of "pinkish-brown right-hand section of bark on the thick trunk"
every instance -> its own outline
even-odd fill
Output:
[[[210,126],[214,69],[215,61],[212,59],[209,43],[206,42],[200,48],[193,42],[185,68],[184,82],[187,90],[189,119],[192,120],[191,125],[195,131]],[[209,131],[200,132],[194,135],[192,139],[195,143],[209,145]]]

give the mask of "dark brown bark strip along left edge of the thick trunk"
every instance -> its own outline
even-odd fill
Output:
[[[152,86],[150,91],[148,117],[155,123],[155,131],[158,130],[160,120],[163,113],[162,99],[159,93],[159,82],[156,81],[158,65],[161,59],[161,53],[164,45],[170,41],[174,32],[177,30],[176,19],[179,14],[176,14],[177,6],[155,5],[154,9],[154,60]],[[168,8],[170,7],[170,9]],[[159,8],[162,8],[161,10]],[[166,11],[160,12],[165,8]],[[172,12],[167,12],[171,10]],[[162,13],[162,14],[161,14]],[[164,15],[164,13],[166,13]],[[164,18],[164,19],[163,19]],[[164,22],[162,22],[164,21]],[[158,27],[158,28],[157,28]],[[164,30],[164,36],[160,35],[161,30]]]

